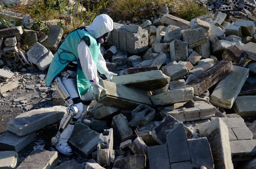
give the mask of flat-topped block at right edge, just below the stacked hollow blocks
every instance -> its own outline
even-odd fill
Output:
[[[233,25],[241,26],[243,36],[252,37],[255,34],[255,26],[253,21],[236,19]]]

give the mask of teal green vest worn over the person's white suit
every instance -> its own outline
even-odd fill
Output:
[[[50,86],[53,79],[55,79],[56,76],[59,76],[59,74],[64,70],[64,68],[66,68],[66,66],[70,62],[78,61],[76,82],[79,96],[81,97],[89,90],[91,85],[89,79],[87,79],[82,71],[77,51],[77,46],[79,45],[81,39],[84,39],[86,44],[89,46],[93,61],[97,63],[100,43],[98,43],[96,39],[87,31],[75,30],[67,35],[65,41],[61,44],[61,46],[58,48],[58,51],[54,54],[45,79],[47,86]]]

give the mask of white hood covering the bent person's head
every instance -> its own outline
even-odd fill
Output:
[[[92,24],[86,30],[96,39],[113,30],[113,20],[106,14],[100,14],[94,18]]]

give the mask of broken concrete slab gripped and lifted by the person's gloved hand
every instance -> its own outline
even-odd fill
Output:
[[[101,95],[98,100],[99,103],[129,110],[136,108],[139,104],[151,105],[145,90],[119,85],[106,80],[100,81],[99,84],[107,90]]]

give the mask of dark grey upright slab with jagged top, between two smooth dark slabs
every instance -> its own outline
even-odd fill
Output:
[[[174,127],[167,132],[166,144],[170,163],[190,161],[189,144],[183,123],[175,123]]]

